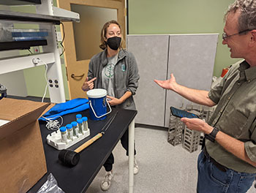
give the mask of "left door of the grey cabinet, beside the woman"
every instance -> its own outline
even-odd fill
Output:
[[[154,79],[167,77],[168,35],[128,35],[127,48],[135,55],[139,69],[139,87],[135,94],[138,115],[135,122],[154,126],[165,124],[166,91]]]

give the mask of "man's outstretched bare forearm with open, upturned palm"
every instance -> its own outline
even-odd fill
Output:
[[[197,90],[193,88],[187,88],[186,86],[181,86],[176,83],[175,77],[173,74],[170,75],[169,80],[154,80],[162,88],[175,91],[177,94],[183,96],[191,102],[195,102],[200,105],[206,105],[212,107],[215,104],[209,97],[208,91]]]

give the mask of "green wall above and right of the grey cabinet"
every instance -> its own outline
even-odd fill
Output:
[[[214,75],[238,59],[222,45],[223,16],[234,0],[128,0],[129,34],[219,33]],[[207,43],[207,42],[206,42]]]

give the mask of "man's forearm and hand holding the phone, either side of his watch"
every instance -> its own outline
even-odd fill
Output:
[[[181,121],[183,121],[189,129],[204,132],[207,135],[214,129],[212,126],[209,126],[205,121],[200,120],[199,118],[181,118]],[[222,145],[223,148],[234,156],[237,156],[239,159],[242,159],[256,167],[256,162],[252,162],[252,160],[249,159],[249,156],[247,156],[244,148],[244,143],[240,140],[236,140],[224,132],[218,132],[215,140],[217,143],[219,143],[219,145]]]

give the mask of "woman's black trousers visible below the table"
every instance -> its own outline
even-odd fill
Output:
[[[124,147],[124,149],[127,151],[127,156],[129,154],[129,129],[127,128],[126,132],[124,132],[123,137],[121,137],[121,145]],[[135,150],[136,154],[136,150]],[[113,163],[114,163],[114,156],[113,153],[111,152],[110,156],[108,156],[108,159],[106,160],[105,164],[103,166],[105,167],[105,170],[107,172],[111,171],[113,168]]]

